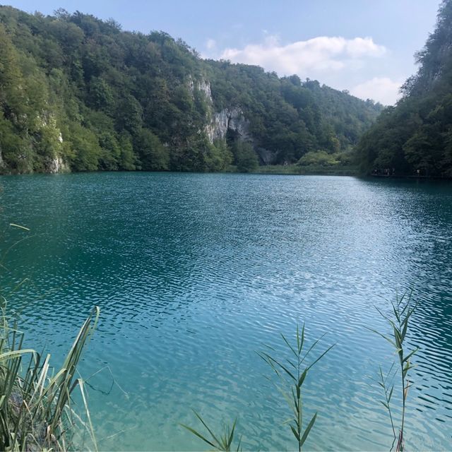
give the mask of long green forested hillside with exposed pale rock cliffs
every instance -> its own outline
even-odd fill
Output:
[[[0,6],[2,172],[247,171],[318,151],[347,160],[381,109],[316,81],[203,60],[165,32]]]

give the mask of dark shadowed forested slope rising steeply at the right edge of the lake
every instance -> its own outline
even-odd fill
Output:
[[[359,141],[363,172],[452,177],[451,0],[441,4],[436,29],[416,57],[420,67],[403,85],[402,99]]]

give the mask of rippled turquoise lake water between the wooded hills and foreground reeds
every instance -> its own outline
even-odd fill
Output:
[[[394,358],[396,290],[420,308],[409,342],[410,450],[451,449],[452,185],[240,174],[1,177],[4,294],[28,345],[65,352],[90,308],[100,326],[81,366],[102,449],[196,450],[179,422],[239,417],[246,449],[290,449],[285,401],[256,355],[306,321],[336,343],[309,376],[319,410],[307,448],[388,450],[371,380]],[[9,222],[30,227],[12,230]],[[396,396],[394,396],[396,397]]]

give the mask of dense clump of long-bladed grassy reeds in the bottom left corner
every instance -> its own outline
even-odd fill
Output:
[[[17,322],[10,326],[6,302],[0,318],[0,450],[66,451],[74,429],[88,429],[97,450],[83,381],[76,376],[81,353],[99,318],[95,307],[85,320],[61,369],[52,371],[50,355],[23,348]],[[81,391],[86,420],[73,409],[71,395]]]

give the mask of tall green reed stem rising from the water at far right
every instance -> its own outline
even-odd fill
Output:
[[[405,347],[405,337],[408,332],[408,322],[410,321],[410,317],[417,308],[417,303],[413,304],[411,301],[411,295],[412,292],[410,292],[408,295],[405,292],[402,297],[398,297],[398,295],[396,295],[396,302],[391,302],[391,316],[383,314],[380,309],[376,308],[376,310],[379,311],[379,314],[388,322],[389,326],[391,327],[391,333],[389,335],[369,328],[374,333],[377,333],[382,338],[386,339],[388,343],[390,343],[394,347],[396,354],[398,355],[398,360],[396,360],[396,362],[398,362],[398,365],[396,366],[396,362],[394,362],[386,376],[383,376],[383,371],[380,367],[379,381],[377,381],[377,383],[379,383],[379,386],[381,386],[381,388],[383,389],[383,393],[385,395],[385,400],[382,400],[381,403],[388,411],[388,415],[391,420],[391,427],[393,429],[394,435],[393,445],[397,440],[396,452],[403,452],[405,450],[405,410],[406,400],[408,397],[408,389],[411,386],[411,381],[410,379],[408,379],[408,371],[410,371],[410,369],[414,367],[413,364],[411,364],[411,358],[413,355],[415,355],[417,350],[419,350],[419,347],[416,347],[413,350],[406,350]],[[396,368],[394,369],[395,366]],[[394,426],[393,421],[393,412],[391,410],[391,398],[394,392],[393,380],[396,374],[399,374],[402,389],[402,415],[400,419],[400,428],[398,434],[396,434],[396,427]],[[392,448],[393,447],[391,447],[391,450]]]

